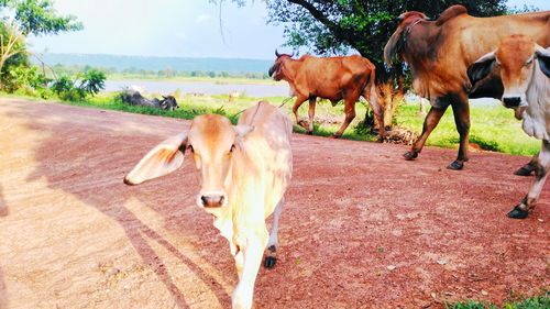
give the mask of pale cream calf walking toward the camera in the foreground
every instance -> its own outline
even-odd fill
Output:
[[[251,308],[254,282],[276,262],[278,220],[293,172],[293,123],[280,109],[258,102],[238,125],[221,115],[196,117],[188,132],[162,142],[128,174],[138,185],[176,170],[189,155],[200,175],[197,205],[230,244],[239,283],[233,308]],[[265,220],[273,213],[271,233]]]

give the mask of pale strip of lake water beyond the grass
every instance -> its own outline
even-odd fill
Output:
[[[168,95],[177,89],[182,93],[229,95],[237,91],[248,97],[286,97],[289,88],[286,81],[276,85],[255,84],[217,84],[207,81],[170,81],[170,80],[106,80],[106,91],[120,91],[131,86],[144,92]]]

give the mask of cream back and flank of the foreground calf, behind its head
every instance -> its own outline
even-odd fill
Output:
[[[254,126],[244,137],[246,152],[260,166],[265,192],[264,217],[270,216],[285,194],[293,173],[290,139],[293,122],[279,108],[262,101],[246,109],[239,124]]]

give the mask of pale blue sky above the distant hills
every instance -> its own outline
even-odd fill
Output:
[[[548,0],[508,4],[550,10]],[[273,59],[276,47],[285,51],[283,26],[266,25],[262,0],[243,8],[226,0],[223,36],[219,7],[209,0],[55,0],[54,7],[76,15],[84,30],[30,37],[33,52]]]

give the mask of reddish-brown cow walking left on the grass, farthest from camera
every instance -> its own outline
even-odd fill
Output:
[[[360,96],[369,100],[378,122],[378,141],[382,142],[384,130],[383,109],[378,104],[375,86],[375,67],[367,59],[359,55],[346,57],[314,57],[304,55],[293,59],[292,55],[279,55],[270,68],[270,76],[275,80],[286,80],[290,86],[290,95],[296,96],[294,117],[296,122],[314,133],[315,106],[317,98],[329,99],[332,104],[344,100],[345,119],[334,133],[334,137],[342,136],[343,132],[355,118],[355,102]],[[309,123],[298,120],[298,108],[309,100]]]

